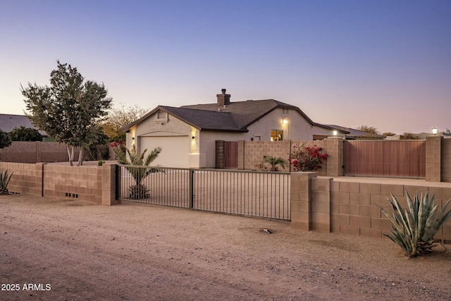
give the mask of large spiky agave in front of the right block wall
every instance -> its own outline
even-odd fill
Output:
[[[434,235],[443,226],[443,223],[451,216],[451,210],[446,211],[450,200],[438,212],[438,205],[434,204],[435,194],[429,199],[426,191],[424,197],[418,196],[412,200],[407,193],[408,209],[403,209],[394,195],[388,199],[393,207],[393,215],[389,214],[383,207],[377,205],[392,222],[392,231],[384,234],[399,245],[409,257],[431,252]]]

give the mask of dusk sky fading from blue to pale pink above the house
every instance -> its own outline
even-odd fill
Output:
[[[56,60],[116,107],[276,99],[313,121],[451,130],[451,1],[0,0],[0,113]]]

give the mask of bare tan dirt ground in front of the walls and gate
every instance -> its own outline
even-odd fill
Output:
[[[0,300],[451,300],[445,246],[408,259],[282,221],[0,195]]]

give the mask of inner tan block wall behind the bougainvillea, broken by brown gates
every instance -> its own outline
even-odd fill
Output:
[[[222,142],[222,143],[221,143]],[[294,145],[316,145],[322,147],[328,159],[317,172],[319,176],[343,176],[343,139],[328,137],[316,141],[238,141],[238,166],[240,170],[257,170],[257,166],[265,155],[289,158]],[[216,168],[223,168],[223,141],[216,141]],[[292,171],[291,166],[285,166],[283,171]],[[451,139],[440,136],[426,137],[426,181],[451,183]]]

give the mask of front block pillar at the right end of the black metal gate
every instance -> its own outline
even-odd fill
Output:
[[[311,178],[315,172],[291,173],[291,227],[309,231],[311,228]]]

